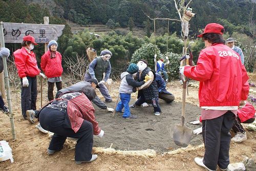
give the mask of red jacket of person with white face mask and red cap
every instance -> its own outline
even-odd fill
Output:
[[[26,48],[16,50],[14,53],[14,61],[20,78],[30,76],[35,77],[40,73],[34,52],[28,53]]]

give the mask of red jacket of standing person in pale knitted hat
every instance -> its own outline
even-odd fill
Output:
[[[56,52],[56,57],[51,58],[51,52],[48,50],[41,57],[41,69],[48,78],[60,77],[63,69],[61,66],[61,54]]]

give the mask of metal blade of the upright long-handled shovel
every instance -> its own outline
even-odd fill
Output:
[[[174,142],[176,145],[187,147],[192,137],[192,129],[186,126],[175,124],[174,126]]]

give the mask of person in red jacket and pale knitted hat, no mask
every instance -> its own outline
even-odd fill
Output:
[[[51,40],[48,44],[49,50],[41,57],[41,69],[45,72],[48,78],[48,100],[53,97],[54,82],[56,83],[57,91],[62,89],[61,74],[63,72],[61,66],[61,54],[57,51],[58,44],[55,40]]]

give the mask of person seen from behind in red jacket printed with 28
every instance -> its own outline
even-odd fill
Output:
[[[210,23],[202,37],[205,49],[197,66],[185,66],[180,73],[200,81],[199,102],[202,108],[205,153],[195,162],[207,170],[226,169],[229,164],[229,133],[238,106],[244,106],[249,93],[248,75],[240,56],[225,45],[224,27]]]

